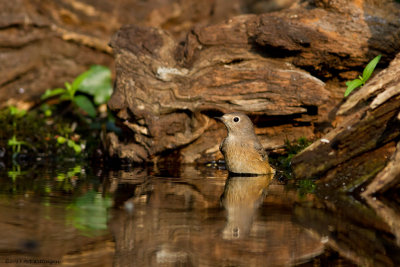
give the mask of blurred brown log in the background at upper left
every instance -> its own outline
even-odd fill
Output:
[[[112,67],[110,36],[121,25],[168,28],[175,36],[196,23],[242,12],[246,0],[17,0],[0,3],[0,108],[32,107],[92,64]]]

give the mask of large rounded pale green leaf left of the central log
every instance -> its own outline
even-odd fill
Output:
[[[79,91],[93,96],[96,105],[104,104],[112,94],[111,71],[101,65],[94,65],[85,72],[85,79],[80,83]]]

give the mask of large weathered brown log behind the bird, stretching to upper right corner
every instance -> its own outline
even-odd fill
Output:
[[[225,133],[211,117],[234,110],[252,117],[268,149],[314,137],[344,90],[329,79],[349,77],[378,52],[387,62],[400,48],[400,9],[385,4],[306,1],[195,27],[183,44],[160,29],[123,27],[111,41],[117,78],[109,107],[139,147],[128,151],[129,141],[111,134],[110,154],[144,162],[179,150],[182,162],[215,159]]]

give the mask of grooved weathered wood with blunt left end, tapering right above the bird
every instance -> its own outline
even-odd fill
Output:
[[[227,33],[236,31],[252,18],[255,16],[236,17],[220,27]],[[117,79],[109,106],[126,120],[148,156],[188,145],[208,129],[213,131],[215,122],[210,115],[216,112],[241,110],[253,116],[287,117],[292,123],[317,120],[318,114],[313,112],[329,94],[323,82],[291,64],[252,52],[245,29],[224,36],[238,40],[217,39],[231,45],[202,49],[187,68],[174,58],[176,43],[164,31],[126,26],[113,38]],[[211,135],[222,137],[220,128],[215,129],[218,135]],[[211,149],[215,153],[219,138],[206,140],[201,152]],[[182,160],[193,162],[199,156],[183,154]]]

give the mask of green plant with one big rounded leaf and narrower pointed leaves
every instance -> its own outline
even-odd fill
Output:
[[[76,77],[72,84],[66,82],[65,88],[48,89],[41,98],[42,100],[47,100],[58,96],[61,102],[71,101],[93,118],[96,116],[95,105],[106,103],[111,93],[110,69],[104,66],[94,65],[88,71]],[[93,102],[86,95],[92,96]],[[46,116],[51,115],[49,106],[42,106],[42,110]]]

